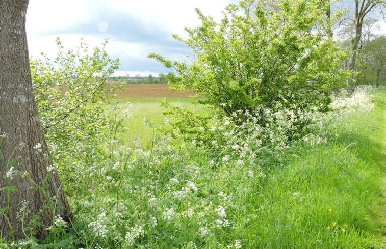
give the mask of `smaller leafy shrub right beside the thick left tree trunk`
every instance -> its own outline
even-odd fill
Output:
[[[96,151],[110,135],[112,119],[105,114],[105,106],[117,89],[109,77],[119,60],[112,60],[104,50],[107,40],[92,51],[83,40],[69,51],[64,51],[59,38],[57,44],[57,58],[32,60],[31,73],[50,152],[55,163],[63,166],[84,160],[88,148]]]

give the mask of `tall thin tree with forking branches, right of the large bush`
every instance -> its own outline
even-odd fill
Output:
[[[355,68],[356,53],[358,50],[359,41],[361,41],[363,21],[366,15],[377,6],[385,3],[386,1],[384,0],[354,0],[355,9],[353,23],[355,26],[355,35],[351,42],[352,55],[348,61],[347,66],[349,70],[354,70]],[[352,79],[347,80],[347,89],[350,92],[354,91],[354,82]]]

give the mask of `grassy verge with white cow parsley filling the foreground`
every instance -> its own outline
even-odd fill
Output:
[[[135,157],[117,146],[86,172],[92,196],[73,196],[77,223],[90,248],[384,248],[384,99],[378,90],[375,109],[317,124],[325,140],[255,163],[212,163],[193,145]]]

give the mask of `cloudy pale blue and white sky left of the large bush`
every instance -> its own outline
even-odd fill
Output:
[[[196,27],[195,8],[220,20],[221,12],[237,0],[30,0],[27,10],[27,39],[30,56],[40,53],[55,58],[56,38],[65,49],[80,45],[101,46],[109,38],[106,51],[120,58],[117,76],[148,76],[167,73],[161,63],[148,59],[150,52],[166,59],[183,61],[191,54],[172,34],[186,37],[184,27]]]

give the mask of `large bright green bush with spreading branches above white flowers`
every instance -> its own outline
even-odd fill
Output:
[[[259,1],[229,5],[220,22],[196,10],[201,25],[176,39],[194,52],[191,62],[149,57],[173,68],[175,90],[193,90],[231,116],[237,110],[274,111],[281,107],[326,110],[331,89],[347,76],[337,70],[345,54],[316,32],[325,6],[321,1],[281,1],[275,11]],[[278,107],[280,106],[280,107]]]

